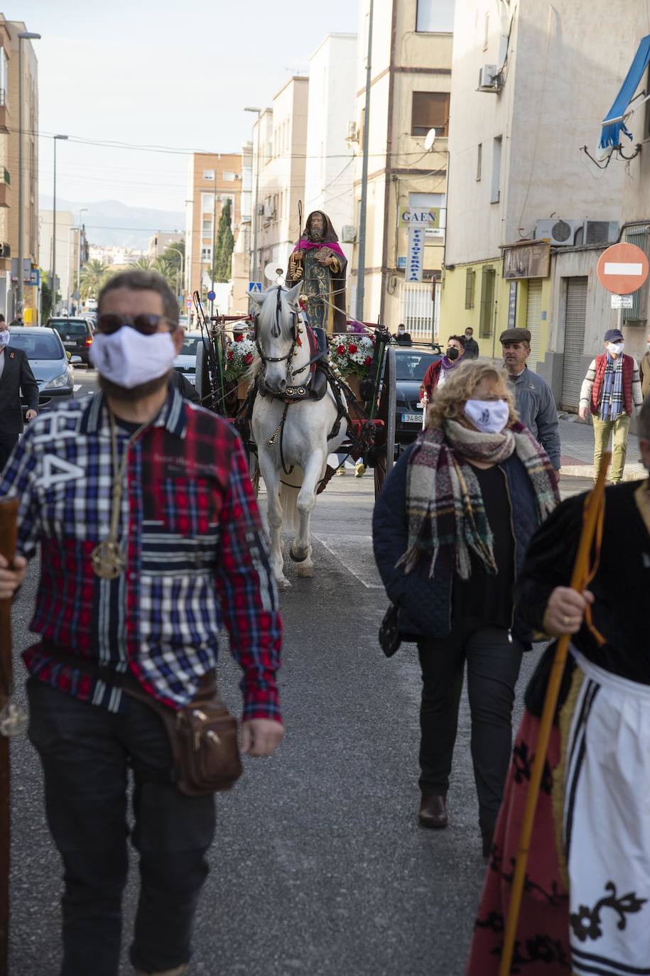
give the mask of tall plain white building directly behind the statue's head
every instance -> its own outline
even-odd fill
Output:
[[[309,59],[305,159],[305,217],[328,215],[349,266],[354,224],[357,142],[356,34],[328,34]]]

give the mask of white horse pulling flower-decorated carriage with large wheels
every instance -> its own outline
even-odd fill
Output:
[[[299,294],[300,284],[289,290],[276,285],[253,297],[254,315],[211,318],[194,295],[202,333],[196,389],[205,406],[238,427],[252,477],[264,478],[271,560],[280,586],[287,585],[283,519],[296,530],[290,554],[299,576],[312,575],[309,518],[335,471],[328,457],[344,454],[372,468],[377,494],[395,451],[395,350],[389,333],[363,326],[369,337],[366,375],[348,383],[330,361],[328,337],[305,321]],[[228,376],[227,330],[252,340],[243,383],[231,379],[232,372]]]

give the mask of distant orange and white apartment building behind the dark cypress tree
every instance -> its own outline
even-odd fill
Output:
[[[185,295],[205,294],[211,285],[212,248],[226,200],[232,233],[241,223],[240,153],[195,152],[189,158],[185,226]]]

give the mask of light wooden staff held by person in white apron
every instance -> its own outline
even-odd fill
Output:
[[[598,519],[602,515],[605,505],[605,478],[611,454],[603,454],[600,460],[600,469],[593,491],[589,492],[583,508],[583,529],[578,543],[576,561],[573,566],[570,587],[582,593],[589,581],[589,561],[591,546],[598,526]],[[540,721],[540,731],[537,738],[537,748],[533,766],[530,774],[528,793],[526,794],[526,804],[524,806],[523,820],[521,822],[521,834],[519,835],[519,847],[514,864],[514,874],[512,876],[512,888],[510,891],[510,901],[508,904],[508,916],[506,918],[506,931],[504,933],[504,948],[501,954],[501,965],[499,976],[509,976],[510,965],[512,963],[512,953],[514,951],[514,941],[517,934],[517,923],[519,921],[519,909],[521,908],[521,897],[523,895],[524,880],[526,877],[526,865],[528,863],[528,853],[530,851],[530,841],[533,834],[533,823],[535,821],[535,811],[540,795],[540,785],[542,783],[542,773],[547,759],[548,742],[550,740],[550,730],[553,723],[553,716],[557,708],[557,698],[559,696],[562,676],[566,666],[566,659],[569,652],[571,634],[564,634],[557,641],[555,657],[553,659],[552,670],[548,677],[547,695],[544,700],[544,711]]]

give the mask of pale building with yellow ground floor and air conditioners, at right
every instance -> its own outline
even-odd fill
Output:
[[[481,354],[499,358],[500,333],[528,328],[529,366],[572,408],[598,345],[585,345],[587,292],[618,236],[626,182],[624,163],[598,169],[581,146],[593,154],[630,66],[636,8],[456,4],[443,336],[472,326]],[[563,277],[581,280],[560,299]]]

